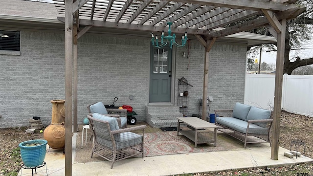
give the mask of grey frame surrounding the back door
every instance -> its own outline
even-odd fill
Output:
[[[150,43],[150,45],[152,45]],[[150,102],[150,71],[151,71],[151,49],[149,49],[149,69],[148,69],[148,105],[174,105],[175,104],[175,82],[176,82],[176,46],[172,48],[172,79],[171,79],[171,101],[170,102]]]

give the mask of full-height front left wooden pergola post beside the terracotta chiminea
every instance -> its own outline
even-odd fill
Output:
[[[77,1],[76,1],[77,2]],[[72,175],[73,3],[65,0],[65,175]]]

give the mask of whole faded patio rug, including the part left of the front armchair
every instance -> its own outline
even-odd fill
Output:
[[[82,133],[77,133],[76,139],[76,154],[75,163],[106,161],[104,158],[94,154],[90,158],[92,151],[92,141],[89,141],[90,131],[87,137],[87,145],[85,145],[85,135],[83,141],[83,148],[81,149]],[[225,151],[228,150],[218,144],[214,147],[214,144],[198,144],[197,148],[194,148],[194,142],[186,138],[185,136],[177,136],[177,132],[150,132],[145,133],[144,141],[145,156],[157,156],[167,154],[184,154],[184,153],[199,153],[199,152],[213,152],[213,151]],[[138,155],[140,157],[140,155]]]

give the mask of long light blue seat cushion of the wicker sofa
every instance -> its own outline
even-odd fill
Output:
[[[216,123],[242,133],[246,133],[246,129],[248,127],[248,122],[234,117],[216,117]],[[263,134],[267,132],[267,130],[267,128],[263,128],[255,124],[250,124],[249,126],[249,134]]]

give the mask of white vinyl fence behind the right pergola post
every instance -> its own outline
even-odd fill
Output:
[[[245,104],[273,110],[275,75],[246,74]],[[313,75],[283,76],[282,109],[313,117]]]

